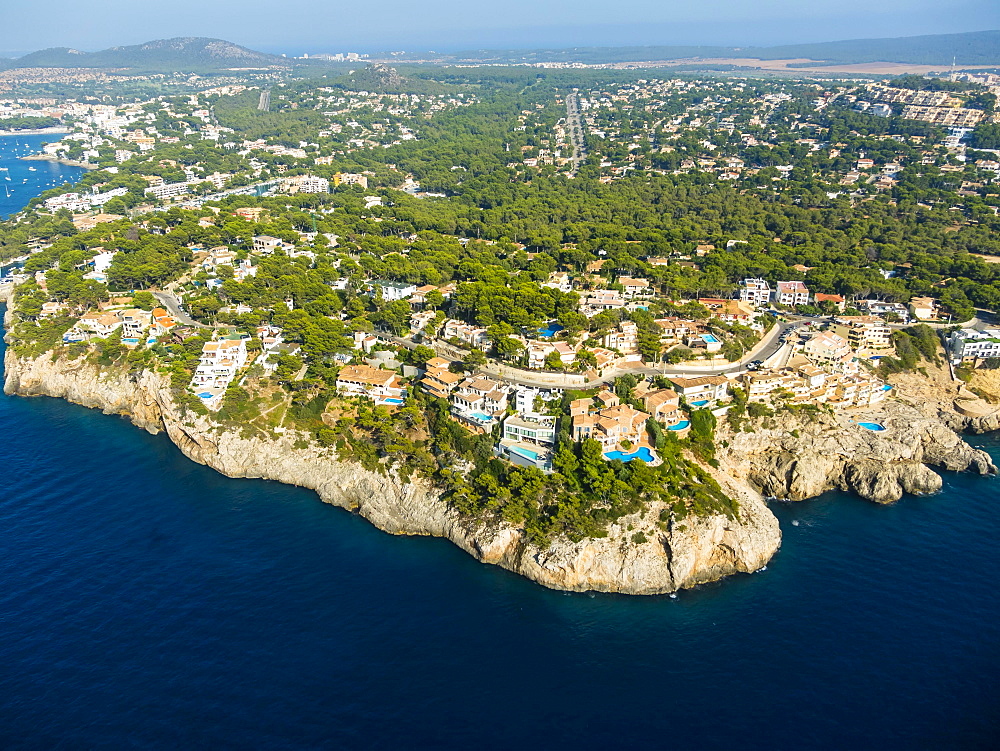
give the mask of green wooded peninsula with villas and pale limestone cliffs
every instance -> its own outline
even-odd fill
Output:
[[[443,71],[62,102],[28,158],[90,172],[0,224],[6,393],[568,591],[996,474],[992,79]]]

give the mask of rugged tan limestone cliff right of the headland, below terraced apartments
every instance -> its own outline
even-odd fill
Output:
[[[859,421],[884,425],[883,432]],[[887,401],[853,414],[810,420],[782,413],[751,421],[752,432],[721,427],[722,468],[767,496],[812,498],[827,490],[852,490],[878,503],[904,493],[932,493],[941,478],[928,467],[995,474],[989,455],[969,446],[952,428],[914,406]]]

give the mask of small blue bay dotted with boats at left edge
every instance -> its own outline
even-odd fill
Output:
[[[50,188],[76,182],[87,171],[82,167],[69,167],[55,162],[26,162],[20,159],[22,156],[41,153],[43,144],[60,138],[61,135],[51,133],[40,136],[0,136],[0,219],[17,213],[32,198]]]

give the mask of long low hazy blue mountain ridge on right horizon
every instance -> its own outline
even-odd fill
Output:
[[[615,63],[690,57],[739,57],[781,60],[804,57],[829,63],[894,62],[911,65],[1000,65],[1000,31],[931,34],[890,39],[852,39],[779,47],[652,46],[576,47],[538,50],[474,50],[455,53],[460,62]]]

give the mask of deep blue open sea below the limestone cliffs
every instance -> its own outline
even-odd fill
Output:
[[[392,537],[60,400],[0,396],[0,436],[5,749],[998,746],[990,478],[777,504],[765,571],[634,598]]]

